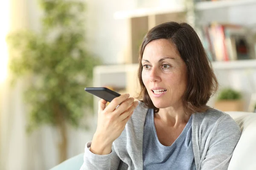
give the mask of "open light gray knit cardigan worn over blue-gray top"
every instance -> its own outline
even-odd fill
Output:
[[[148,108],[140,102],[122,134],[113,142],[110,154],[91,153],[91,142],[88,142],[80,170],[142,170],[143,128],[147,111]],[[239,125],[226,113],[208,109],[205,113],[192,114],[196,169],[227,170],[240,135]]]

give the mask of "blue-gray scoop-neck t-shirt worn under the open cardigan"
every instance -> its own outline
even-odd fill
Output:
[[[157,138],[154,111],[148,109],[143,135],[143,170],[195,170],[192,148],[192,116],[171,146]]]

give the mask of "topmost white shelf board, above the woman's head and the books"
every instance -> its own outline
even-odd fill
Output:
[[[256,4],[256,0],[219,0],[219,1],[208,1],[208,2],[198,2],[195,4],[195,8],[198,10],[207,10],[214,8],[226,8],[232,6],[242,6]],[[114,13],[115,19],[126,19],[133,17],[145,17],[157,14],[168,14],[177,13],[184,11],[184,6],[176,6],[175,8],[167,7],[156,7],[156,8],[140,8],[128,11],[117,11]]]

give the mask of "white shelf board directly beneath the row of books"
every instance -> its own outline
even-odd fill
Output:
[[[212,62],[215,70],[256,68],[256,59]]]

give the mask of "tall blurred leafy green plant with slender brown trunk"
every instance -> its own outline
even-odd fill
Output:
[[[10,33],[9,68],[13,82],[26,79],[28,132],[40,125],[58,130],[59,161],[67,159],[67,125],[86,126],[79,120],[91,112],[92,95],[84,92],[91,85],[93,67],[99,64],[85,44],[85,4],[73,0],[39,0],[44,11],[39,33]]]

